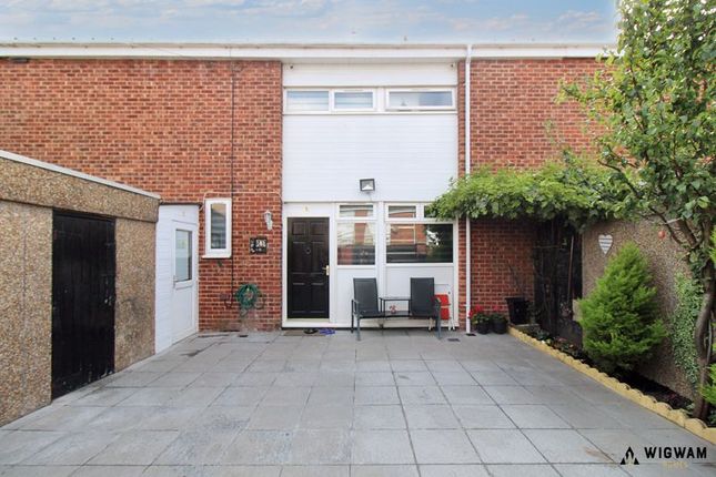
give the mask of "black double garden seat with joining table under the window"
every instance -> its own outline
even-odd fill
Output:
[[[361,319],[391,318],[434,319],[437,339],[441,338],[441,303],[435,297],[434,278],[411,278],[411,296],[405,311],[386,312],[384,306],[386,301],[391,301],[391,298],[377,296],[375,278],[353,278],[351,333],[356,329],[359,341],[361,339]]]

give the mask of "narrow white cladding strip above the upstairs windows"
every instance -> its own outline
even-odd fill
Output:
[[[284,64],[284,88],[454,87],[455,63]]]

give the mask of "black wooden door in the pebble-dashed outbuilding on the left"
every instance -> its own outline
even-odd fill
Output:
[[[114,222],[56,212],[52,397],[114,371]]]

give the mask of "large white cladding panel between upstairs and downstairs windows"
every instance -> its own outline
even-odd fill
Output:
[[[456,175],[454,113],[284,115],[285,202],[427,202]],[[376,191],[360,192],[360,179]]]

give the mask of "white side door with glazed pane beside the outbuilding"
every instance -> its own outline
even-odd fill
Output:
[[[199,207],[162,205],[157,224],[155,349],[198,331]]]

